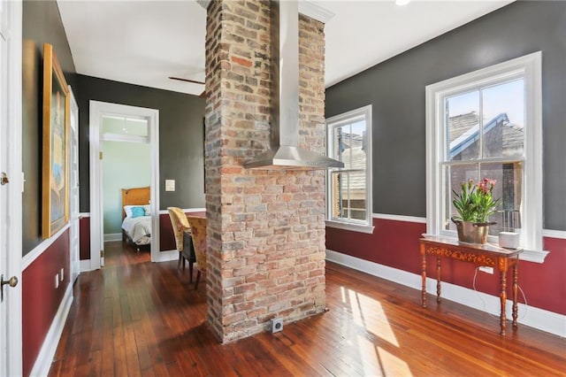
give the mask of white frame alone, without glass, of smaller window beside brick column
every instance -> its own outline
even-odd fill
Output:
[[[356,220],[356,219],[340,219],[340,218],[333,218],[332,217],[332,201],[331,198],[333,197],[333,185],[332,185],[332,174],[329,172],[326,173],[326,226],[327,227],[336,227],[345,230],[352,230],[355,232],[373,233],[373,220],[372,220],[372,191],[371,191],[371,104],[366,106],[360,107],[358,109],[344,112],[342,114],[333,116],[331,118],[326,119],[326,136],[327,136],[327,155],[332,157],[334,154],[333,150],[333,129],[335,127],[340,127],[341,125],[345,125],[348,123],[352,123],[356,121],[356,119],[365,119],[365,137],[366,137],[366,164],[365,164],[365,219],[363,220]],[[331,169],[332,171],[342,170],[340,168]]]

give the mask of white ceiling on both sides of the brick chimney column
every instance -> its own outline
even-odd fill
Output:
[[[326,87],[511,1],[311,0],[326,23]],[[195,0],[57,0],[77,73],[200,95],[206,12]]]

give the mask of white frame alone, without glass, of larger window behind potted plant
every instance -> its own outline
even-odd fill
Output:
[[[455,237],[442,224],[445,185],[442,162],[447,133],[444,130],[444,99],[466,89],[524,78],[524,181],[521,205],[521,259],[542,263],[547,255],[542,244],[542,79],[541,52],[515,58],[426,87],[426,232]],[[497,242],[492,237],[489,242]]]

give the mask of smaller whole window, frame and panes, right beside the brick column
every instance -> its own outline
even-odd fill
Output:
[[[328,156],[344,163],[327,173],[327,225],[371,233],[371,105],[326,119]]]

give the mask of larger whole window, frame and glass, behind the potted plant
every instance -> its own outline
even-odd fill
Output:
[[[540,52],[426,87],[427,233],[455,237],[453,190],[496,180],[490,241],[542,251]],[[541,254],[539,254],[541,255]]]

